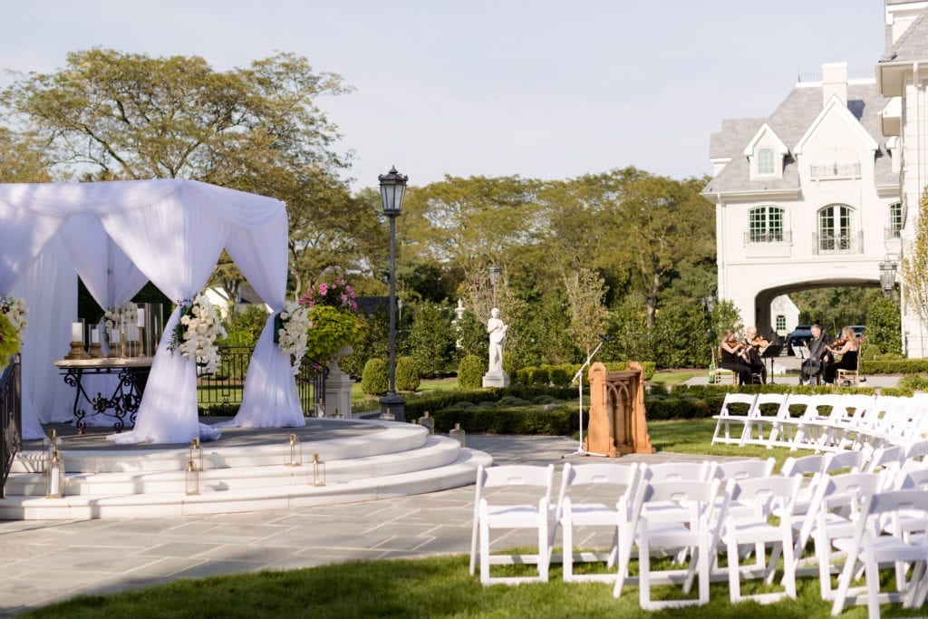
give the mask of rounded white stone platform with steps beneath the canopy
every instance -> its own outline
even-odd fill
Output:
[[[211,418],[215,423],[222,419]],[[114,445],[112,432],[54,425],[64,496],[46,498],[41,441],[26,441],[0,499],[0,520],[161,517],[301,508],[418,495],[472,484],[493,459],[408,423],[307,419],[303,428],[223,428],[203,443],[199,494],[187,494],[189,445]],[[290,433],[302,464],[290,466]],[[314,454],[325,463],[315,485]]]

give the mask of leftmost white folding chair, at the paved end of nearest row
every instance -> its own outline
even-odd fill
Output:
[[[548,582],[548,520],[551,517],[551,486],[554,465],[536,467],[508,465],[477,470],[477,487],[473,505],[473,530],[470,537],[470,574],[474,573],[480,556],[480,582],[483,585],[515,585],[526,582]],[[498,488],[486,496],[488,488]],[[538,553],[490,554],[490,532],[493,529],[535,529]],[[479,544],[479,549],[478,549]],[[535,563],[537,576],[491,577],[491,565]]]

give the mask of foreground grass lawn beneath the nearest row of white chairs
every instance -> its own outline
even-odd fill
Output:
[[[612,586],[564,583],[561,567],[551,566],[550,581],[518,587],[482,587],[468,574],[468,557],[367,561],[326,565],[289,572],[263,572],[178,580],[161,587],[110,596],[80,596],[45,606],[24,617],[829,617],[831,603],[818,596],[818,581],[800,578],[796,600],[761,607],[755,602],[732,605],[725,582],[713,583],[710,602],[649,613],[638,606],[638,587],[627,586],[612,598]],[[633,572],[634,572],[634,565]],[[495,568],[505,572],[520,566]],[[755,581],[742,592],[754,593]],[[767,589],[765,589],[767,590]],[[678,599],[679,587],[653,587],[655,599]],[[695,591],[694,594],[695,595]],[[899,605],[884,607],[893,616],[918,616]],[[852,607],[842,616],[864,617]]]

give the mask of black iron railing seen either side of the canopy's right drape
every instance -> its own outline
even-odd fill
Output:
[[[197,378],[197,402],[200,409],[223,415],[234,414],[238,410],[253,351],[253,346],[219,347],[222,359],[219,369],[215,374],[201,374]],[[324,365],[303,358],[300,373],[296,376],[296,388],[303,412],[311,412],[314,403],[319,398],[325,398],[328,372]]]

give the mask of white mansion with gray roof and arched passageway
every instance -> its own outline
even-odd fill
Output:
[[[928,184],[928,2],[885,0],[885,16],[875,79],[823,65],[767,118],[726,120],[712,135],[702,194],[715,202],[718,297],[762,334],[795,326],[780,295],[897,281]],[[905,352],[925,356],[928,330],[905,292]]]

